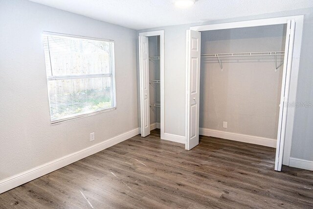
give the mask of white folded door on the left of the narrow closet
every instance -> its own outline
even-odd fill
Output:
[[[141,137],[150,134],[149,48],[148,37],[139,36],[139,79]]]

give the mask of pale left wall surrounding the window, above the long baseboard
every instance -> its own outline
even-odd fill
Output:
[[[138,128],[134,30],[26,0],[0,1],[0,30],[0,180]],[[50,124],[42,31],[115,41],[116,110]]]

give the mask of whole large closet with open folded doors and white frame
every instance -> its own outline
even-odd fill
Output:
[[[302,24],[303,16],[293,16],[187,30],[187,150],[199,144],[199,134],[275,147],[281,170],[291,143],[288,135],[285,146],[293,125],[288,99],[290,92],[295,99],[290,86],[299,66],[292,58],[300,53]]]

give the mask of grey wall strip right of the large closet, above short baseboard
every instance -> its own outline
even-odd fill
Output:
[[[313,8],[305,13],[296,102],[313,105]],[[291,157],[313,161],[313,107],[295,109]],[[313,165],[312,165],[313,166]]]

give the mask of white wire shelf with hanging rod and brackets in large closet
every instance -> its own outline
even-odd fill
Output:
[[[222,54],[201,54],[203,58],[216,57],[219,61],[221,70],[223,71],[222,61],[220,57],[244,57],[244,56],[275,56],[275,72],[282,65],[277,66],[277,55],[285,55],[284,51],[267,51],[267,52],[241,52],[241,53],[222,53]]]

